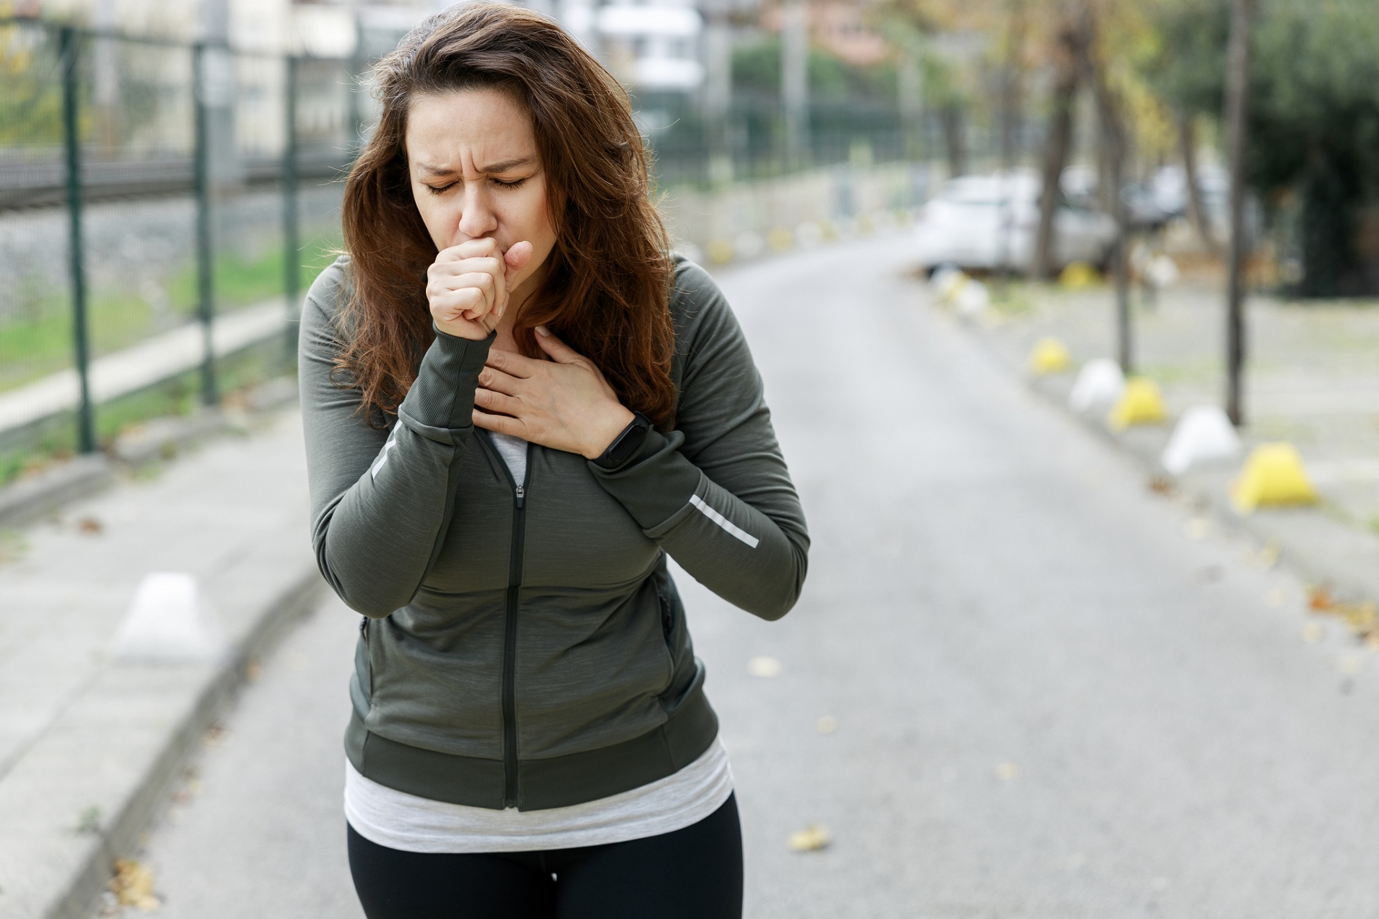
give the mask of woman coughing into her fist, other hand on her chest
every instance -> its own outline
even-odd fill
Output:
[[[666,251],[625,95],[470,6],[375,69],[301,335],[313,542],[364,614],[345,810],[371,919],[742,909],[672,556],[775,620],[808,537],[732,312]]]

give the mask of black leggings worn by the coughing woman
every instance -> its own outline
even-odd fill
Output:
[[[738,802],[662,836],[498,854],[422,854],[349,828],[368,919],[741,919]]]

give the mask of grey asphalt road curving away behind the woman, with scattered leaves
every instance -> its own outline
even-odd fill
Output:
[[[814,534],[776,624],[681,577],[747,916],[1379,915],[1368,654],[1305,640],[1295,578],[1151,494],[905,269],[891,239],[721,277]],[[152,833],[167,919],[359,916],[354,624],[324,603],[265,662]],[[833,843],[790,851],[812,822]]]

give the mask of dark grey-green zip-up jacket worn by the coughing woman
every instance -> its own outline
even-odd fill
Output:
[[[723,294],[676,261],[674,429],[618,469],[531,444],[513,482],[472,422],[488,341],[443,333],[386,431],[331,378],[349,261],[312,284],[301,386],[321,573],[364,614],[345,748],[434,800],[538,810],[663,778],[717,733],[672,556],[767,620],[809,538]]]

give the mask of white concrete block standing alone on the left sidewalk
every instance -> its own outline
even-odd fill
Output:
[[[135,589],[113,650],[117,661],[127,662],[214,661],[226,643],[196,578],[154,571]]]

